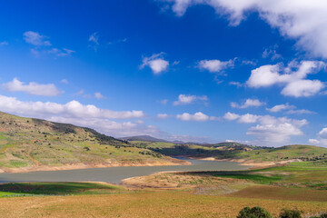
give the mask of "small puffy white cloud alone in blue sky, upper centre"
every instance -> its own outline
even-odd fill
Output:
[[[164,53],[153,54],[150,57],[144,57],[140,68],[143,69],[145,66],[149,66],[154,74],[161,74],[166,71],[169,66],[169,62],[163,59]]]

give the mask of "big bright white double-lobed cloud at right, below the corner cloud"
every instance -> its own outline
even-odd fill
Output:
[[[253,88],[281,84],[284,86],[282,94],[285,96],[308,97],[319,93],[325,84],[319,80],[305,78],[308,74],[317,73],[325,66],[325,63],[318,61],[302,61],[300,64],[291,62],[286,67],[282,64],[263,65],[251,72],[246,84]],[[294,68],[296,71],[293,71]]]

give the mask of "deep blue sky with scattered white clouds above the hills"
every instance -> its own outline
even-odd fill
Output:
[[[319,0],[6,1],[0,110],[116,137],[326,146],[326,15]]]

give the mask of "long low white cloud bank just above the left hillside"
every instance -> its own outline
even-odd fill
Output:
[[[81,104],[71,101],[67,104],[51,102],[22,102],[15,97],[0,95],[0,111],[13,114],[31,115],[36,117],[73,117],[73,118],[107,118],[133,119],[144,117],[143,111],[112,111],[100,109],[93,104]]]

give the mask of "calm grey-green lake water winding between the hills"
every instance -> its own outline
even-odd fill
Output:
[[[148,175],[163,171],[231,171],[246,170],[250,167],[233,162],[202,161],[193,159],[183,160],[189,161],[192,163],[192,165],[122,166],[65,171],[42,171],[31,173],[0,173],[0,183],[85,181],[121,183],[121,181],[126,178]]]

